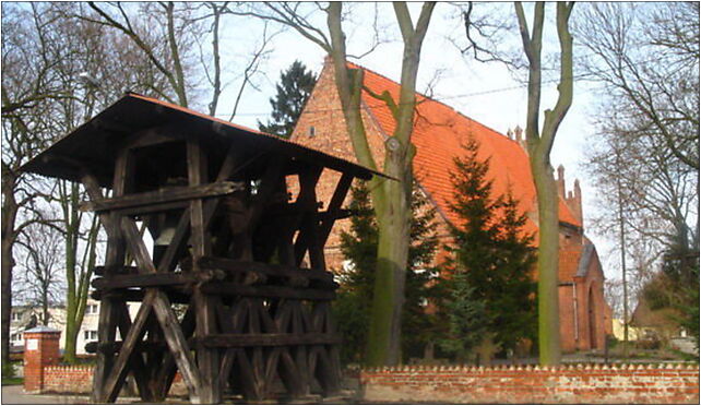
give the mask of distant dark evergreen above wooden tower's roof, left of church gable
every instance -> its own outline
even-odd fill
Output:
[[[268,124],[258,121],[259,130],[288,139],[292,135],[307,98],[317,83],[317,75],[300,61],[295,61],[280,74],[277,94],[270,99],[273,119]]]

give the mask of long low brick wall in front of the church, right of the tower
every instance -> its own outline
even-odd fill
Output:
[[[372,403],[699,403],[699,366],[400,367],[360,373]]]

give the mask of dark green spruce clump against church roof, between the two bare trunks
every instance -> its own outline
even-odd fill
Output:
[[[479,345],[513,350],[521,339],[534,339],[537,329],[535,252],[533,236],[523,232],[525,214],[511,194],[494,196],[489,159],[478,159],[478,143],[471,139],[464,148],[452,176],[451,210],[461,222],[451,227],[454,246],[445,267],[452,277],[444,283],[450,295],[442,303],[449,335],[441,342],[459,357]]]

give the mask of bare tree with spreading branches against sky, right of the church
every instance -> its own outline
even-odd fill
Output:
[[[651,280],[664,251],[674,244],[698,251],[699,5],[591,4],[583,11],[577,31],[592,53],[583,67],[605,87],[587,166],[602,203],[616,196],[618,207],[615,218],[601,211],[595,224],[604,234],[619,230],[627,314],[628,298]]]

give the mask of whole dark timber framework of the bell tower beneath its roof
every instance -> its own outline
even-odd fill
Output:
[[[273,394],[277,380],[293,397],[309,394],[312,380],[326,395],[337,392],[340,339],[330,309],[337,284],[325,272],[323,246],[333,222],[343,216],[341,205],[354,177],[342,175],[321,213],[316,186],[322,168],[308,165],[299,169],[298,198],[287,204],[276,193],[288,168],[284,159],[269,159],[257,193],[238,219],[242,227],[236,232],[242,232],[248,248],[237,251],[239,256],[217,258],[213,255],[213,229],[219,230],[221,224],[213,228],[212,223],[222,215],[217,207],[223,196],[248,193],[246,183],[228,180],[247,164],[238,162],[230,146],[210,182],[207,155],[200,140],[178,135],[187,151],[188,186],[133,193],[132,148],[174,141],[153,131],[140,136],[119,150],[110,199],[102,195],[94,174],[83,170],[82,181],[91,198],[86,207],[99,215],[108,234],[103,278],[93,283],[103,306],[93,401],[115,402],[129,373],[134,374],[142,399],[163,401],[176,370],[182,374],[191,402],[219,403],[227,390],[263,399]],[[270,212],[271,207],[278,212]],[[152,259],[134,215],[150,224],[153,215],[174,210],[181,214],[173,238]],[[230,231],[216,236],[217,252],[234,241],[230,238]],[[259,244],[256,252],[251,250],[254,243]],[[135,267],[124,263],[127,255]],[[273,255],[278,265],[269,263]],[[311,270],[299,268],[305,255]],[[212,277],[226,280],[209,283]],[[189,298],[182,320],[173,311],[169,297]],[[133,321],[127,311],[128,299],[141,301]],[[117,329],[121,342],[115,341]]]

